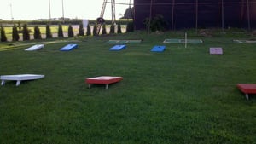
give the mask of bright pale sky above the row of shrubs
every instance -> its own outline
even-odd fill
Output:
[[[103,0],[63,0],[64,17],[95,20],[101,14],[102,3]],[[115,0],[115,3],[129,4],[130,0]],[[129,5],[116,4],[116,19],[120,17],[120,14],[124,14],[128,7]],[[49,15],[51,18],[62,17],[62,0],[1,0],[0,19],[2,20],[49,19]],[[107,3],[103,17],[111,19],[110,3]]]

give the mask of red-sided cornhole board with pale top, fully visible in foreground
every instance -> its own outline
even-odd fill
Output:
[[[113,84],[121,81],[122,77],[113,77],[113,76],[100,76],[95,78],[86,78],[85,83],[89,84],[90,88],[91,84],[106,84],[106,89],[108,89],[108,84]]]

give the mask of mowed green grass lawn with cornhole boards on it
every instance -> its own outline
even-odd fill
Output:
[[[256,95],[247,101],[236,84],[256,83],[256,45],[232,41],[253,37],[188,36],[204,43],[162,43],[184,32],[0,43],[1,75],[45,75],[0,87],[0,143],[255,143]],[[143,42],[109,51],[110,39]],[[24,51],[35,43],[44,49]],[[79,48],[59,50],[68,43]],[[154,45],[166,51],[150,52]],[[109,89],[84,84],[102,75],[124,79]]]

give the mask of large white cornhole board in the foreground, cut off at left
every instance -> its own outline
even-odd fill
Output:
[[[38,75],[38,74],[17,74],[17,75],[3,75],[0,76],[0,79],[2,80],[1,85],[5,84],[6,80],[15,80],[16,86],[19,86],[22,80],[34,80],[34,79],[40,79],[44,78],[44,75]]]

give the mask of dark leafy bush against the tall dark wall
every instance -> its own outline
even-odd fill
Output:
[[[165,31],[166,30],[166,20],[163,15],[157,14],[155,15],[152,20],[149,20],[149,18],[146,18],[143,20],[143,24],[147,27],[149,27],[151,32],[156,32],[156,31]]]

